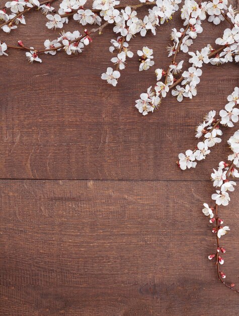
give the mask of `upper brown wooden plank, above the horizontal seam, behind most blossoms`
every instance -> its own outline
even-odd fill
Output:
[[[57,36],[58,31],[46,29],[46,19],[39,12],[26,19],[28,26],[2,34],[2,40],[13,44],[21,39],[39,47],[46,38]],[[204,32],[192,49],[213,44],[225,25],[203,22]],[[208,179],[215,160],[225,157],[225,141],[213,148],[197,172],[179,172],[175,162],[179,152],[194,148],[194,129],[203,115],[223,108],[226,96],[239,84],[238,65],[206,65],[193,100],[179,103],[169,95],[161,109],[147,117],[134,108],[140,93],[155,83],[153,68],[139,73],[137,49],[153,48],[155,68],[166,68],[171,28],[181,26],[178,12],[174,22],[161,26],[155,37],[136,36],[130,42],[135,56],[116,88],[100,79],[111,66],[108,46],[114,34],[110,27],[101,38],[94,36],[81,56],[60,52],[56,57],[43,56],[42,65],[30,65],[22,51],[10,51],[8,58],[1,59],[1,178]],[[65,30],[75,28],[79,26],[71,21]],[[227,130],[225,137],[231,133]]]

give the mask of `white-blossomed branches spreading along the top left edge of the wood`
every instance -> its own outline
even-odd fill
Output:
[[[77,54],[82,52],[85,45],[88,45],[92,38],[90,34],[99,32],[102,33],[102,29],[108,24],[114,24],[113,31],[121,36],[117,38],[117,41],[112,39],[113,44],[110,47],[110,51],[113,52],[117,49],[117,58],[112,58],[111,61],[116,65],[116,71],[109,67],[106,74],[102,74],[102,79],[106,79],[108,83],[113,85],[117,84],[117,79],[120,77],[118,70],[125,68],[126,57],[133,57],[133,52],[128,48],[129,40],[135,36],[136,33],[140,33],[141,36],[145,36],[147,31],[151,30],[155,35],[156,26],[160,23],[163,24],[165,21],[171,20],[173,14],[179,10],[178,4],[181,0],[148,0],[144,2],[141,0],[140,4],[135,5],[120,5],[118,0],[94,0],[92,9],[85,9],[84,5],[86,0],[63,0],[60,3],[58,13],[51,15],[49,13],[54,12],[54,8],[51,7],[51,3],[54,0],[48,2],[39,3],[38,0],[18,0],[9,1],[6,3],[6,8],[10,8],[12,15],[8,15],[6,9],[0,11],[0,20],[5,22],[0,25],[5,32],[10,32],[12,29],[17,28],[17,24],[25,24],[24,13],[30,11],[32,8],[42,9],[42,13],[46,15],[48,22],[46,26],[48,29],[62,28],[64,23],[68,23],[68,18],[73,16],[73,19],[82,25],[86,24],[98,24],[99,27],[88,31],[85,29],[85,34],[80,34],[78,31],[74,32],[62,32],[61,36],[57,39],[50,41],[46,39],[44,42],[45,48],[36,48],[26,46],[22,40],[18,41],[18,46],[7,45],[4,42],[0,42],[0,56],[8,55],[7,48],[12,49],[24,49],[27,50],[26,57],[29,62],[42,62],[39,58],[39,54],[45,53],[55,55],[57,51],[62,48],[66,54]],[[141,20],[137,17],[137,12],[133,11],[141,7],[151,7],[148,15],[145,15],[144,19]],[[119,10],[121,9],[121,11]],[[102,18],[101,18],[102,17]],[[105,23],[102,24],[102,19]],[[153,64],[153,62],[151,62]],[[114,73],[114,74],[113,74]],[[113,74],[113,75],[112,75]]]

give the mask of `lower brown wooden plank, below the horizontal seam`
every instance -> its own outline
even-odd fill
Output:
[[[4,316],[237,315],[216,279],[206,181],[0,181]],[[237,200],[220,208],[238,283]]]

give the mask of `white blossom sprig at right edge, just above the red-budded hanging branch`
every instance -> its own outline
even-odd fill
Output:
[[[185,154],[179,154],[178,166],[182,170],[187,168],[195,168],[196,161],[200,161],[206,158],[206,155],[210,153],[211,147],[221,142],[222,131],[219,128],[219,124],[225,127],[233,127],[238,122],[239,109],[236,108],[239,104],[239,88],[235,87],[234,91],[227,96],[228,103],[225,105],[225,110],[219,112],[219,118],[216,119],[216,111],[210,111],[205,115],[204,121],[200,123],[196,128],[196,138],[203,137],[203,140],[199,141],[196,149],[186,150]]]

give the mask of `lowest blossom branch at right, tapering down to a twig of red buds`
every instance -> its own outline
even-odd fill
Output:
[[[205,216],[209,217],[209,222],[213,224],[211,231],[212,233],[216,234],[217,239],[217,248],[215,253],[210,254],[208,256],[208,259],[211,260],[213,258],[216,259],[216,267],[217,267],[217,274],[219,280],[226,285],[228,288],[238,292],[238,290],[235,290],[234,284],[226,284],[222,279],[225,279],[225,274],[220,271],[219,265],[223,265],[224,259],[219,255],[219,253],[225,253],[224,247],[220,245],[220,238],[221,236],[224,236],[230,229],[228,226],[221,226],[223,224],[223,221],[221,218],[219,218],[218,214],[218,206],[228,205],[230,201],[229,193],[234,191],[234,187],[236,186],[236,183],[234,181],[231,181],[229,178],[239,177],[239,172],[236,168],[239,167],[239,130],[237,130],[233,136],[230,137],[230,139],[227,141],[230,149],[232,150],[232,154],[228,156],[228,163],[220,162],[218,165],[217,170],[213,169],[213,173],[211,174],[211,179],[213,181],[213,186],[218,188],[216,190],[216,193],[212,194],[211,198],[215,201],[215,204],[213,206],[209,206],[207,203],[204,203],[204,208],[202,209],[202,212]]]

